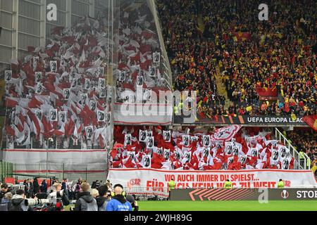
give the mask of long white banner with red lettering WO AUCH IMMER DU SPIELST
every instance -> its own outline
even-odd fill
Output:
[[[315,188],[316,180],[311,170],[251,169],[251,170],[186,170],[161,169],[109,169],[108,179],[112,184],[142,192],[156,188],[161,194],[167,192],[168,181],[174,179],[176,188],[223,188],[227,179],[235,188],[277,188],[278,181],[285,188]]]

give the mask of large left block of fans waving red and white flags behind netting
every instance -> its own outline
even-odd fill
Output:
[[[107,24],[85,17],[73,27],[55,27],[49,44],[30,46],[23,60],[12,60],[5,73],[7,148],[109,145]]]

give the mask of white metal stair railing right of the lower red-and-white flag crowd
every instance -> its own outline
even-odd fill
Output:
[[[301,158],[299,152],[292,146],[290,141],[275,127],[275,139],[280,143],[283,143],[288,149],[294,158],[294,169],[311,169],[311,159],[306,153]]]

